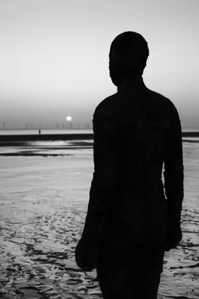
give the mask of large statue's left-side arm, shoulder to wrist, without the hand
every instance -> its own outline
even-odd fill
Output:
[[[111,118],[98,109],[94,113],[93,130],[94,173],[83,236],[98,248],[105,219],[115,204],[119,188],[120,145]]]

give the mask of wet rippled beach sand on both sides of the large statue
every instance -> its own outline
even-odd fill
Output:
[[[159,299],[199,298],[199,144],[184,143],[183,240],[165,254]],[[0,156],[0,298],[101,298],[82,271],[93,157]]]

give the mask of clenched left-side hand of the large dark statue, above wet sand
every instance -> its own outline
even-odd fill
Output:
[[[92,271],[97,264],[97,248],[89,241],[80,239],[75,249],[75,261],[78,267],[84,271]]]

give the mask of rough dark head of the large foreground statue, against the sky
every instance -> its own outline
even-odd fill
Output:
[[[112,83],[118,86],[125,80],[141,78],[148,56],[148,44],[141,34],[127,31],[117,35],[109,52]]]

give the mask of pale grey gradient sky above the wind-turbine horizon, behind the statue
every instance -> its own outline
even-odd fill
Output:
[[[1,121],[92,122],[116,92],[110,44],[135,31],[149,46],[146,86],[199,127],[198,15],[196,0],[0,0]]]

